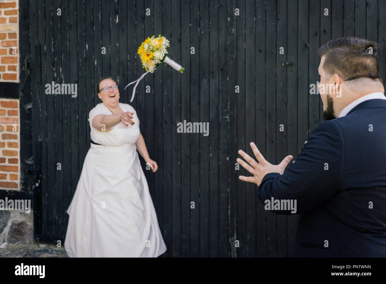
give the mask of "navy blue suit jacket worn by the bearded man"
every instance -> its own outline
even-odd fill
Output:
[[[295,257],[386,257],[386,100],[320,123],[290,163],[259,199],[296,199]]]

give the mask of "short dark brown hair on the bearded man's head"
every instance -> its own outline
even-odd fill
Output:
[[[325,55],[325,78],[338,74],[344,81],[358,78],[379,79],[379,45],[360,37],[339,37],[319,48],[319,56]]]

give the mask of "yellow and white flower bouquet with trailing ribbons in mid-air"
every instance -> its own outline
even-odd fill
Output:
[[[158,37],[147,37],[147,39],[139,46],[138,54],[142,61],[142,68],[145,68],[147,72],[142,74],[141,77],[139,77],[137,80],[127,84],[127,86],[125,87],[126,89],[129,85],[137,82],[134,86],[130,102],[132,102],[134,99],[135,88],[137,87],[139,81],[143,77],[145,77],[147,73],[153,73],[154,70],[156,70],[157,66],[161,63],[165,62],[166,64],[173,67],[174,70],[183,73],[184,68],[175,61],[171,60],[168,56],[166,56],[168,54],[168,48],[168,39],[161,36],[160,34],[158,35]]]

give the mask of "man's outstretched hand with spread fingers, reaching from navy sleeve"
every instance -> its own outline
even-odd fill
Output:
[[[252,173],[253,177],[244,177],[243,175],[239,176],[240,180],[244,180],[245,182],[253,182],[259,186],[261,184],[261,181],[263,177],[267,173],[280,173],[281,175],[284,173],[285,168],[287,167],[288,163],[292,160],[293,156],[288,155],[286,156],[279,165],[272,165],[271,163],[268,163],[266,159],[261,155],[259,149],[257,149],[255,143],[250,143],[251,148],[253,150],[253,153],[256,156],[256,159],[259,163],[256,162],[254,158],[251,158],[247,153],[245,153],[242,150],[239,150],[239,154],[249,163],[245,163],[240,158],[237,158],[237,162],[242,165],[245,170]]]

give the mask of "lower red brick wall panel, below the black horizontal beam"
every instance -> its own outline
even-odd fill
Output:
[[[19,100],[0,99],[0,188],[20,190]]]

